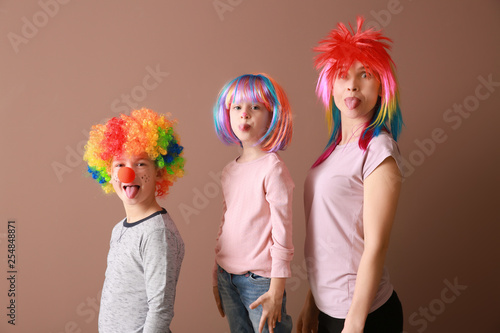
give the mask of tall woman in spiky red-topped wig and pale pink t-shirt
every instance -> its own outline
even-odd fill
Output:
[[[316,91],[333,130],[305,181],[311,289],[297,332],[403,328],[384,267],[401,185],[398,87],[390,40],[362,25],[358,18],[351,33],[340,23],[315,49]]]

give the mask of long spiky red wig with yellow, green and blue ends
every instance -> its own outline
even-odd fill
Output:
[[[331,136],[325,151],[313,167],[321,164],[342,139],[340,110],[333,100],[333,84],[337,76],[347,71],[356,60],[371,72],[382,88],[373,118],[366,124],[359,138],[359,147],[366,150],[370,140],[379,135],[381,130],[391,133],[394,140],[398,139],[401,132],[403,119],[399,107],[395,64],[387,52],[392,40],[373,28],[363,31],[363,21],[362,17],[357,18],[356,32],[350,24],[352,32],[343,23],[339,23],[337,29],[333,29],[314,48],[319,53],[315,58],[315,66],[320,70],[316,93],[327,108]]]

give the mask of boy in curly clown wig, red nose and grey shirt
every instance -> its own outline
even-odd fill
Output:
[[[174,122],[141,109],[92,127],[83,159],[126,218],[111,235],[99,332],[170,332],[184,243],[157,197],[183,176]]]

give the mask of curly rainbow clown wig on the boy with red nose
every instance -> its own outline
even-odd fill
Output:
[[[132,111],[130,116],[121,114],[104,125],[92,126],[83,159],[104,192],[114,192],[110,183],[113,157],[148,154],[157,168],[165,170],[163,178],[156,182],[158,197],[166,195],[173,182],[184,175],[183,147],[174,132],[176,121],[168,117],[143,108]]]

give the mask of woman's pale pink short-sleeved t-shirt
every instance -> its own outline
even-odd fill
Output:
[[[402,170],[396,142],[385,132],[373,138],[366,152],[358,142],[337,146],[307,175],[304,189],[307,234],[305,258],[311,291],[318,308],[345,318],[351,306],[364,249],[363,182],[387,157]],[[370,312],[393,291],[384,267]]]

